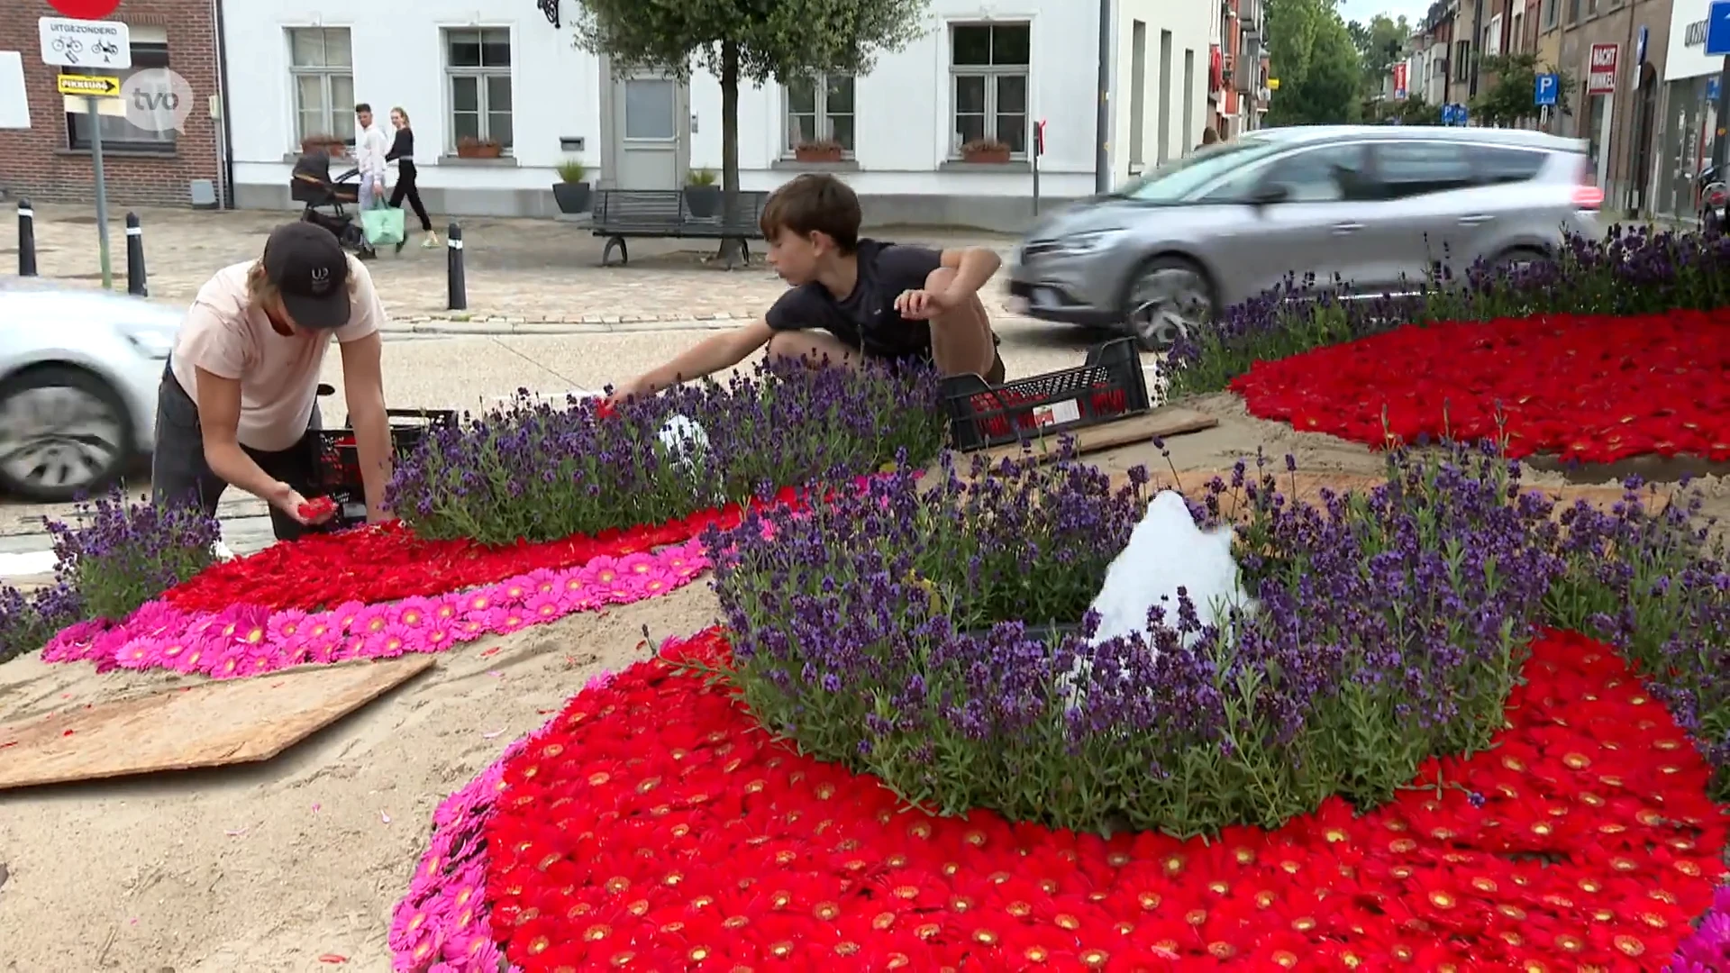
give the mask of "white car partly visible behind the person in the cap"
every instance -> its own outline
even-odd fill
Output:
[[[125,476],[156,441],[180,312],[0,277],[0,492],[64,502]]]

